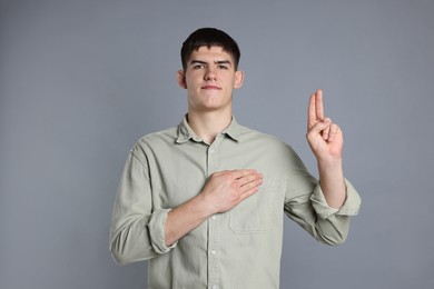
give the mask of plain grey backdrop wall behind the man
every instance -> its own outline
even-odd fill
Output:
[[[146,288],[108,251],[127,152],[186,111],[179,48],[237,39],[243,124],[305,140],[325,93],[363,198],[341,247],[285,223],[282,288],[433,288],[434,1],[0,1],[0,288]]]

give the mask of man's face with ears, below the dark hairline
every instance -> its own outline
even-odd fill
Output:
[[[190,112],[231,111],[233,90],[241,87],[243,79],[243,72],[235,71],[233,57],[220,47],[200,47],[191,53],[186,70],[178,71]]]

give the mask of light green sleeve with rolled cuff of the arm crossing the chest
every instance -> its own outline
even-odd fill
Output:
[[[124,168],[115,200],[110,251],[119,265],[147,260],[168,252],[165,223],[170,209],[154,208],[146,161],[134,151]]]

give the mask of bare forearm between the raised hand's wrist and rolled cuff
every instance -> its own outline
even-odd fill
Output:
[[[346,199],[342,159],[318,160],[319,186],[329,207],[339,209]]]

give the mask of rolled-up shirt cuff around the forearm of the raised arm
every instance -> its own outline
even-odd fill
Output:
[[[320,186],[316,186],[314,193],[310,196],[310,201],[319,218],[327,219],[332,215],[355,216],[358,213],[362,203],[361,197],[347,179],[345,179],[345,186],[346,200],[341,209],[329,207]]]

